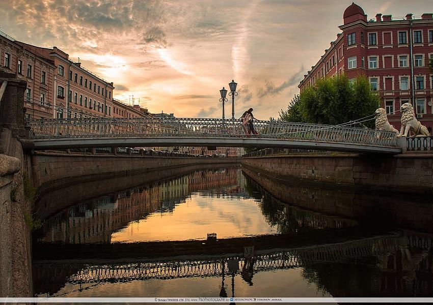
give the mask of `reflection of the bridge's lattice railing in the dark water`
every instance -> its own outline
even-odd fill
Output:
[[[291,250],[257,254],[252,261],[240,254],[224,257],[179,260],[161,258],[158,261],[136,260],[134,262],[79,263],[61,261],[47,264],[36,262],[34,274],[41,279],[55,278],[59,273],[68,273],[66,283],[124,282],[147,279],[175,279],[186,277],[220,277],[227,272],[228,261],[238,264],[239,270],[250,268],[250,272],[289,269],[315,263],[345,261],[362,256],[377,256],[394,251],[401,243],[397,235],[387,237],[350,240],[323,246],[295,248]],[[66,272],[65,272],[66,271]],[[37,280],[36,280],[37,282]]]

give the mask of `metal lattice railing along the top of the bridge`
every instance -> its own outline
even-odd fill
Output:
[[[240,120],[220,118],[28,119],[31,137],[246,137]],[[345,126],[254,121],[255,138],[297,139],[396,147],[392,132]]]

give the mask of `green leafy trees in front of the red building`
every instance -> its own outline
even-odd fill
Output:
[[[281,110],[279,119],[315,124],[338,125],[374,114],[380,98],[370,90],[365,76],[350,82],[340,75],[321,78],[313,86],[295,95],[286,111]],[[373,128],[374,121],[364,125]]]

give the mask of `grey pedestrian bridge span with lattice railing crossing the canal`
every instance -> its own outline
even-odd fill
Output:
[[[265,146],[399,154],[394,133],[346,126],[256,121],[246,138],[239,120],[68,118],[27,121],[37,149],[119,146]]]

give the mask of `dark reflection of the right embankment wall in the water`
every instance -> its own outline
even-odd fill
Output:
[[[337,224],[335,227],[349,226],[349,219],[368,227],[379,225],[433,232],[433,208],[429,196],[339,190],[338,185],[337,188],[335,185],[319,187],[305,181],[272,178],[247,166],[242,166],[242,171],[266,191],[262,192],[263,196],[270,194],[290,207],[307,211],[306,222],[314,219],[313,212],[318,212],[326,217],[327,226],[333,222]],[[287,210],[291,214],[297,212],[296,209]],[[299,214],[303,215],[302,212]]]

